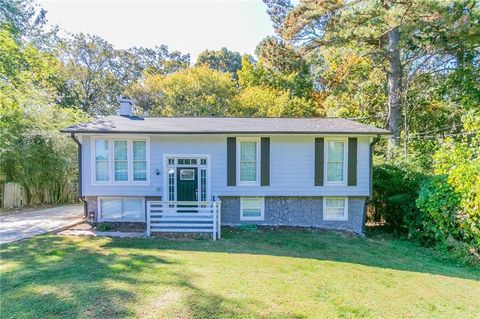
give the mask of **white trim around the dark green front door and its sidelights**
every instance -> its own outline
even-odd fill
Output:
[[[173,165],[169,165],[168,164],[168,159],[169,158],[175,158],[175,163]],[[187,164],[181,164],[181,165],[178,165],[177,164],[177,159],[178,158],[196,158],[197,159],[197,164],[191,164],[191,165],[187,165]],[[200,160],[204,158],[207,160],[207,165],[203,165],[203,164],[200,164]],[[206,178],[207,178],[207,194],[206,194],[206,199],[207,201],[209,200],[209,198],[212,198],[212,193],[211,193],[211,178],[210,178],[210,172],[211,172],[211,163],[212,163],[212,160],[211,160],[211,157],[210,157],[210,154],[163,154],[163,197],[164,200],[168,201],[169,200],[169,189],[168,189],[168,169],[169,168],[172,168],[174,169],[174,188],[173,188],[173,191],[174,191],[174,201],[177,201],[177,168],[182,168],[182,167],[196,167],[197,168],[197,179],[198,179],[198,190],[200,191],[201,190],[201,187],[202,187],[202,181],[201,181],[201,178],[200,178],[200,170],[201,169],[205,169],[207,171],[207,175],[206,175]],[[200,194],[198,196],[199,198],[199,201],[200,201]]]

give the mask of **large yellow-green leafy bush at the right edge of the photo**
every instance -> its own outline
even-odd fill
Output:
[[[416,201],[421,223],[412,236],[480,261],[480,116],[465,118],[464,137],[446,139],[434,155],[435,176]]]

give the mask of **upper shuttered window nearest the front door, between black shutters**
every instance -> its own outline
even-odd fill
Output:
[[[238,185],[259,185],[258,138],[239,138],[237,143]]]

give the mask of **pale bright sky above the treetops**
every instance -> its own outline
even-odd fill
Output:
[[[251,1],[39,1],[50,25],[96,34],[117,49],[166,44],[190,53],[227,47],[253,54],[273,35],[261,0]]]

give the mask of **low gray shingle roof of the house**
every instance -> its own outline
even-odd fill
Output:
[[[64,133],[129,134],[389,134],[342,118],[232,118],[107,116],[66,127]]]

